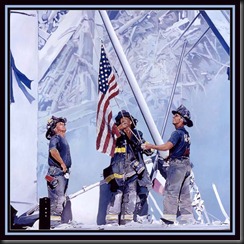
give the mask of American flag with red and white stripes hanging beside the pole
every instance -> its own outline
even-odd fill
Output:
[[[112,121],[112,109],[110,100],[119,94],[119,88],[115,81],[104,46],[101,45],[101,57],[98,76],[98,105],[97,105],[97,141],[96,149],[99,152],[114,154],[115,137],[112,133],[114,123]]]

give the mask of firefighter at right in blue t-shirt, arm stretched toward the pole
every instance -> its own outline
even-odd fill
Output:
[[[169,166],[164,191],[163,220],[166,224],[194,223],[192,200],[190,195],[190,135],[185,129],[193,126],[190,111],[180,105],[172,111],[173,125],[169,140],[162,145],[142,144],[143,149],[169,150]]]

